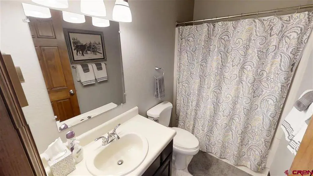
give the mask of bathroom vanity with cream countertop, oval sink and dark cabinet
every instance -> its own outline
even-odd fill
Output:
[[[116,128],[118,140],[105,146],[101,140],[94,141],[106,137],[117,124],[121,124]],[[171,175],[175,135],[175,130],[139,115],[138,107],[132,108],[76,137],[84,148],[84,159],[69,175]]]

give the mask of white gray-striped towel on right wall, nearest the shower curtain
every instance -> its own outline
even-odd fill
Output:
[[[313,90],[305,91],[302,93],[301,97],[309,91]],[[313,103],[305,111],[298,111],[295,107],[291,109],[280,126],[285,133],[285,138],[287,141],[291,141],[299,133],[304,124],[306,124],[305,121],[312,116],[312,112]]]

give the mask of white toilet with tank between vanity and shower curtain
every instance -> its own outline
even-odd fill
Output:
[[[147,111],[150,120],[158,122],[166,127],[170,124],[172,103],[163,101]],[[199,141],[190,132],[172,127],[176,131],[173,139],[173,163],[174,168],[183,170],[187,167],[187,156],[193,156],[199,152]]]

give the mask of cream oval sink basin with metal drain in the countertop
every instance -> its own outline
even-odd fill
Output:
[[[145,137],[128,133],[120,136],[86,159],[88,171],[93,175],[122,176],[135,170],[146,158],[148,141]]]

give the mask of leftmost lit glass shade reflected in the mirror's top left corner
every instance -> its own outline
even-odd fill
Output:
[[[35,6],[31,4],[22,3],[26,16],[37,18],[50,18],[50,9],[46,7]]]

